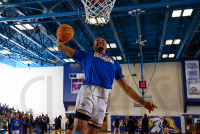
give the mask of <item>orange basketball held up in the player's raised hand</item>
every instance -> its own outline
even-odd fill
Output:
[[[65,43],[65,42],[70,41],[73,38],[74,30],[70,25],[63,24],[58,27],[56,34],[57,34],[58,41]]]

